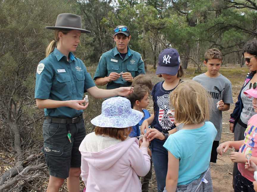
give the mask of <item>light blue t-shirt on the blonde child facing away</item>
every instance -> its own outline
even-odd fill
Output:
[[[181,129],[170,135],[164,147],[179,159],[178,185],[198,179],[210,164],[217,130],[210,121],[197,129]]]

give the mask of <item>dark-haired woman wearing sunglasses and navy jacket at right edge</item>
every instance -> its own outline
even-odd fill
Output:
[[[238,100],[235,104],[233,113],[230,115],[230,131],[234,132],[234,140],[239,141],[245,138],[245,129],[247,128],[248,120],[256,114],[252,105],[252,97],[244,94],[250,89],[250,85],[257,81],[257,40],[248,41],[243,48],[243,56],[245,57],[245,65],[248,66],[250,72],[247,74],[243,87],[238,95]],[[237,163],[234,163],[233,168],[233,188],[234,178],[236,176]]]

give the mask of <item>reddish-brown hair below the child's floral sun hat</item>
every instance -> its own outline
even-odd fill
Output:
[[[115,139],[124,141],[129,137],[131,127],[114,128],[114,127],[95,127],[95,135],[107,135]]]

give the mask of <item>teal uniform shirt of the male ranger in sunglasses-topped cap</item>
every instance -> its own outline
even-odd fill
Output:
[[[129,72],[133,76],[138,76],[139,74],[145,73],[144,62],[140,53],[129,49],[126,57],[123,58],[120,56],[117,48],[113,48],[107,52],[105,52],[98,63],[97,69],[95,71],[94,80],[100,77],[109,76],[110,73],[116,72]],[[130,82],[122,79],[120,77],[116,81],[111,81],[107,84],[107,89],[115,89],[119,87],[129,87],[131,85]]]

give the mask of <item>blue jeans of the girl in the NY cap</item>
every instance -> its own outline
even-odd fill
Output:
[[[166,175],[168,170],[168,151],[163,147],[166,140],[153,139],[151,141],[151,151],[153,166],[156,175],[158,192],[162,192],[166,185]]]

